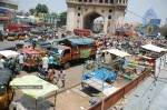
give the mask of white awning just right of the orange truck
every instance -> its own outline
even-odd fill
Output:
[[[124,52],[124,51],[120,51],[118,49],[104,50],[104,52],[109,52],[111,54],[115,54],[115,56],[118,56],[118,57],[121,57],[121,58],[131,56],[131,54],[129,54],[127,52]]]

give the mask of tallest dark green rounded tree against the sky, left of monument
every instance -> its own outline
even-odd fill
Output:
[[[46,4],[40,4],[40,3],[38,3],[37,6],[36,6],[36,12],[37,12],[37,14],[38,13],[48,13],[48,7],[46,6]]]

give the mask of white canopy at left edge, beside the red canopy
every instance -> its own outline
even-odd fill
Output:
[[[12,58],[12,57],[17,57],[19,53],[12,50],[3,50],[0,51],[1,56],[4,56],[6,58]]]

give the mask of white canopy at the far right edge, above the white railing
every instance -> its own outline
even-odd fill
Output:
[[[151,43],[141,46],[141,48],[144,48],[144,49],[146,49],[146,50],[155,51],[155,52],[167,51],[167,49],[164,49],[164,48],[154,46],[154,44],[151,44]]]

